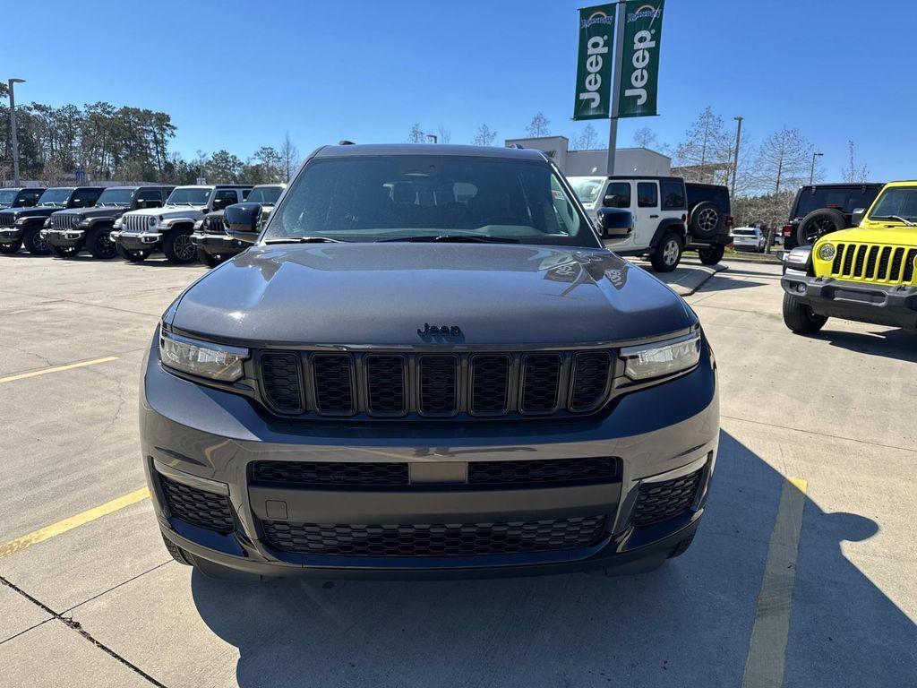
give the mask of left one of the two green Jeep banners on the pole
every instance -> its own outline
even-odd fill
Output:
[[[574,119],[611,117],[613,43],[614,5],[580,9]]]

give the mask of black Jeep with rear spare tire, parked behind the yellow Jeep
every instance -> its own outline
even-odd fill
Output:
[[[885,183],[806,184],[801,186],[783,226],[783,248],[815,243],[823,234],[852,227],[856,208],[867,208]]]

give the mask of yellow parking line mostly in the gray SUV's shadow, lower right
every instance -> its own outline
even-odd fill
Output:
[[[809,483],[787,478],[780,491],[777,520],[770,534],[768,561],[761,592],[757,595],[755,624],[751,630],[742,688],[779,688],[783,685],[793,587],[799,555],[802,510]]]

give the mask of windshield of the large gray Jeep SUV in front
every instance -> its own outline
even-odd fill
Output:
[[[434,155],[313,161],[274,213],[264,239],[445,236],[598,246],[547,165]]]

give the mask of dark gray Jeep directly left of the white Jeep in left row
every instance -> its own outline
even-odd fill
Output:
[[[50,216],[50,226],[41,230],[50,250],[58,258],[70,258],[89,250],[93,258],[114,258],[116,244],[111,231],[128,210],[159,208],[174,186],[110,186],[91,208],[59,210]]]

